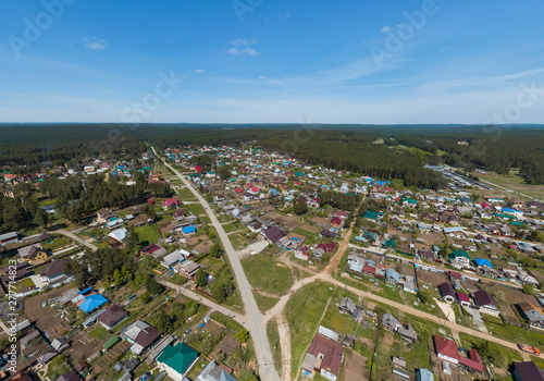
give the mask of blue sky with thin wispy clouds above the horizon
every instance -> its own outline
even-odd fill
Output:
[[[0,122],[544,123],[540,0],[0,7]]]

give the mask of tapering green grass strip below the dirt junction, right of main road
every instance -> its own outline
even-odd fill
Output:
[[[290,327],[290,345],[293,358],[304,359],[304,352],[317,331],[319,320],[332,295],[327,283],[311,283],[299,291],[287,302],[285,314]],[[292,376],[298,371],[299,362],[292,362]]]

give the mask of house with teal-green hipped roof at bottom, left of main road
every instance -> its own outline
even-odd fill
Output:
[[[157,358],[157,364],[170,378],[183,381],[197,360],[198,352],[183,343],[177,343],[174,346],[166,346]]]

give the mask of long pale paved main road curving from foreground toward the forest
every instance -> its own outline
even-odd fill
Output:
[[[185,186],[195,195],[195,197],[200,201],[200,204],[205,207],[208,217],[211,220],[211,223],[218,231],[218,235],[223,243],[223,247],[225,248],[225,253],[228,256],[228,260],[231,261],[231,266],[234,271],[235,279],[238,283],[238,290],[242,294],[242,299],[244,300],[244,306],[246,308],[246,312],[249,319],[249,330],[251,332],[251,337],[254,340],[255,349],[257,353],[257,361],[259,362],[259,376],[262,380],[265,381],[279,381],[280,377],[274,369],[272,352],[270,351],[269,341],[267,337],[267,331],[264,329],[264,324],[261,320],[261,316],[259,314],[259,308],[257,308],[257,303],[255,302],[254,294],[251,292],[251,286],[247,281],[246,274],[242,268],[242,263],[239,258],[236,256],[236,251],[226,235],[223,225],[219,222],[215,214],[212,212],[210,206],[206,201],[206,199],[200,196],[200,194],[193,187],[193,185],[187,181],[178,171],[176,171],[172,165],[165,162],[162,156],[157,155],[154,147],[151,147],[154,156],[157,156],[160,160],[164,162],[164,164],[170,168],[174,173],[183,181]]]

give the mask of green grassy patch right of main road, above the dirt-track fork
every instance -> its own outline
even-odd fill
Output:
[[[282,294],[293,285],[289,269],[265,255],[257,254],[245,259],[242,261],[242,267],[249,283],[260,291]]]

